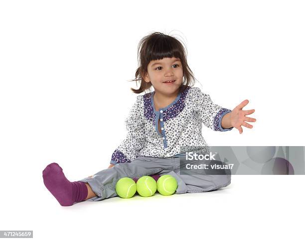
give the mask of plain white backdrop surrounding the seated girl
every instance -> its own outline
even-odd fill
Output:
[[[136,94],[137,47],[160,31],[187,47],[195,86],[255,109],[253,129],[210,146],[305,146],[305,4],[296,0],[1,1],[0,230],[35,240],[296,238],[304,176],[232,176],[208,193],[111,198],[61,207],[51,162],[80,180],[109,165]],[[252,124],[252,123],[250,123]],[[302,220],[299,219],[302,217]]]

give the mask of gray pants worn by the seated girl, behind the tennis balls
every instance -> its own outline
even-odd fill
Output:
[[[183,157],[138,157],[132,162],[116,164],[111,168],[97,172],[92,177],[86,177],[79,181],[88,183],[92,191],[97,195],[97,197],[89,198],[86,201],[100,201],[118,196],[116,183],[122,177],[140,178],[146,175],[169,174],[177,180],[176,194],[217,190],[231,183],[231,172],[221,175],[209,175],[188,171],[187,174],[180,174],[180,158],[182,159]]]

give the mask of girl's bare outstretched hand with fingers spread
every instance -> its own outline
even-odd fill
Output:
[[[239,134],[243,133],[243,129],[241,126],[245,126],[247,128],[253,128],[252,125],[248,124],[248,122],[256,122],[256,119],[247,117],[246,115],[252,114],[255,110],[242,110],[247,104],[249,100],[244,100],[239,105],[237,105],[231,112],[230,122],[233,127],[239,130]]]

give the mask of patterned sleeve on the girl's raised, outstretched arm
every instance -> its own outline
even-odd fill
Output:
[[[193,111],[195,111],[201,118],[203,124],[214,131],[230,131],[233,129],[223,129],[221,127],[222,117],[232,110],[214,104],[210,95],[201,92],[200,88],[193,87],[191,91],[191,99]]]

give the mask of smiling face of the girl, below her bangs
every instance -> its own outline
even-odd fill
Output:
[[[162,94],[173,94],[182,84],[183,70],[179,59],[163,58],[161,60],[153,60],[149,63],[148,74],[145,77],[146,82],[152,82],[152,86],[156,92]],[[166,82],[174,80],[172,82]]]

